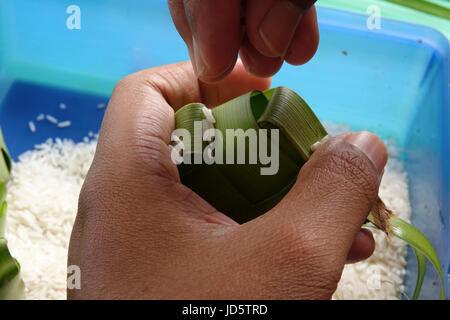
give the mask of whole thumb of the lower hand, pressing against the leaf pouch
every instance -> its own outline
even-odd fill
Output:
[[[271,249],[265,256],[281,262],[276,266],[279,272],[302,270],[311,281],[325,277],[334,291],[377,198],[386,161],[385,145],[369,132],[334,137],[314,152],[286,197],[249,223]],[[298,276],[295,280],[301,281]]]

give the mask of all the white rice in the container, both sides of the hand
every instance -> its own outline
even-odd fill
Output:
[[[326,123],[335,135],[348,127]],[[48,140],[24,153],[14,164],[7,195],[6,238],[22,267],[25,299],[65,299],[66,264],[78,194],[92,162],[97,141],[75,144]],[[380,196],[402,219],[411,208],[406,173],[388,144],[390,160]],[[347,265],[334,299],[398,299],[403,291],[406,245],[374,231],[376,249],[371,258]]]

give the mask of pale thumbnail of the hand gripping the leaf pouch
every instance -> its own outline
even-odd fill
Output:
[[[379,177],[383,175],[388,155],[386,146],[380,138],[370,132],[361,131],[350,134],[345,140],[367,155],[375,165]]]

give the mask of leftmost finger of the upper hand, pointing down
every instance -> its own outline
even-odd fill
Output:
[[[172,0],[169,6],[197,76],[210,83],[224,79],[240,47],[241,1]]]

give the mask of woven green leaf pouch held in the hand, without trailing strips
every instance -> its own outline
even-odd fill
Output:
[[[194,121],[204,120],[201,112],[202,104],[190,104],[178,110],[175,114],[175,126],[177,129],[186,129],[194,137]],[[284,109],[289,110],[292,119],[284,117]],[[274,207],[294,185],[300,167],[310,155],[310,149],[303,145],[310,145],[320,141],[327,135],[320,121],[314,115],[309,106],[295,92],[288,88],[276,88],[267,92],[251,92],[237,97],[212,110],[216,119],[215,129],[222,133],[222,138],[216,137],[216,144],[223,146],[223,158],[231,157],[226,146],[233,143],[233,164],[181,164],[181,181],[194,190],[197,194],[208,200],[218,210],[226,213],[239,223],[249,221],[256,216],[267,212]],[[301,115],[307,115],[301,116]],[[275,175],[261,175],[261,168],[267,165],[261,163],[260,159],[254,164],[238,164],[237,148],[239,141],[245,141],[245,149],[248,149],[249,141],[246,132],[254,129],[270,129],[281,122],[286,127],[281,128],[279,136],[279,166]],[[304,133],[303,126],[313,128],[307,134],[295,137],[298,139],[293,148],[290,138],[285,134]],[[242,129],[236,132],[236,136],[228,138],[227,129]],[[260,137],[254,140],[257,144]],[[186,143],[186,141],[183,141]],[[268,145],[273,141],[268,137]],[[191,141],[193,151],[194,145],[200,142]],[[203,144],[204,146],[204,144]],[[278,148],[278,146],[277,146]],[[246,153],[246,159],[249,154]],[[220,192],[211,192],[220,186]],[[257,192],[255,192],[255,186]]]

